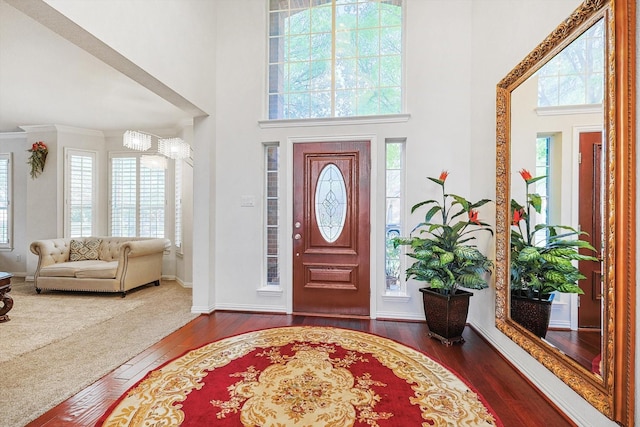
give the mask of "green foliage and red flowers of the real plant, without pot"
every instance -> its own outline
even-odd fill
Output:
[[[409,237],[397,237],[394,245],[410,247],[407,256],[415,259],[407,268],[407,279],[428,282],[431,289],[441,293],[455,293],[458,286],[471,289],[488,287],[487,273],[493,262],[471,242],[476,231],[488,231],[491,226],[478,219],[480,206],[490,202],[482,199],[469,202],[464,197],[445,191],[449,173],[443,171],[439,178],[428,177],[442,188],[442,201],[425,200],[411,208],[411,213],[422,207],[430,207],[424,221],[419,223]],[[434,222],[438,218],[440,222]]]

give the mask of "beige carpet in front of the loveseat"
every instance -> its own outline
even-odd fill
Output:
[[[173,281],[118,294],[47,292],[12,280],[0,323],[0,426],[34,420],[197,317]]]

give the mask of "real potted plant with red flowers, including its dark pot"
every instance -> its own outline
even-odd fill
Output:
[[[467,322],[471,289],[488,287],[486,275],[493,267],[490,261],[472,244],[474,233],[488,231],[490,225],[478,219],[478,208],[488,203],[482,199],[472,203],[464,197],[445,191],[449,173],[443,171],[438,178],[428,179],[442,189],[442,201],[425,200],[411,208],[411,213],[429,207],[424,221],[409,237],[397,237],[394,245],[410,248],[407,255],[415,261],[406,269],[406,278],[427,282],[420,288],[429,336],[443,344],[464,342],[462,331]],[[434,219],[436,221],[434,221]],[[439,222],[437,222],[439,221]]]

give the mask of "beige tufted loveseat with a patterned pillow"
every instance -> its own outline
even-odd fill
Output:
[[[126,292],[148,283],[160,284],[162,255],[168,239],[84,237],[31,243],[38,255],[36,291]]]

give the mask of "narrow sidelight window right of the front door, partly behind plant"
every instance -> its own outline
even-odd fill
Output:
[[[387,292],[402,291],[400,280],[401,251],[393,246],[393,239],[402,234],[402,186],[404,141],[390,140],[386,146],[386,227],[385,276]]]

